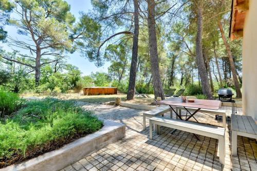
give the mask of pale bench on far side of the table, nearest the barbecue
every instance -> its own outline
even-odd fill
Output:
[[[197,110],[197,108],[192,108],[192,107],[187,107],[187,109],[189,111]],[[181,116],[181,110],[186,110],[186,109],[181,107],[181,106],[176,106],[176,112],[180,116]],[[226,129],[226,110],[222,110],[222,109],[219,109],[219,110],[200,109],[199,112],[210,113],[210,114],[213,114],[213,115],[221,115],[222,116],[223,127]],[[176,116],[176,118],[177,118],[177,116]]]

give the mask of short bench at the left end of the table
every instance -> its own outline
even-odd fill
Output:
[[[149,111],[146,111],[143,113],[143,129],[145,129],[145,117],[149,117],[149,118],[152,118],[152,117],[156,117],[156,116],[159,116],[159,115],[162,115],[168,111],[171,111],[171,118],[172,118],[172,110],[171,110],[171,107],[170,106],[159,106],[159,107],[156,107],[155,109],[152,109],[152,110],[149,110]]]

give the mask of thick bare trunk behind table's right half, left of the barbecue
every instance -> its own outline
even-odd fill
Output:
[[[203,47],[201,39],[203,36],[203,4],[199,1],[197,6],[197,35],[196,35],[196,63],[201,79],[201,87],[203,93],[207,96],[208,99],[213,99],[211,88],[208,81],[208,75],[205,68],[205,62],[203,58]]]

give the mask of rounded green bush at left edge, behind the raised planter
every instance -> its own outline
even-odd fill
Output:
[[[0,118],[9,116],[20,109],[24,101],[18,94],[0,89]]]

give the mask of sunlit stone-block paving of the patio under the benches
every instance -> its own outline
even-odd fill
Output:
[[[257,170],[257,143],[254,139],[238,136],[238,157],[230,156],[230,121],[226,129],[225,166],[219,164],[217,140],[161,127],[161,135],[149,140],[149,123],[142,130],[142,110],[100,104],[83,105],[95,110],[101,118],[126,125],[126,137],[102,148],[90,156],[63,168],[69,170]],[[231,112],[230,107],[223,107]],[[237,114],[242,108],[237,108]],[[169,113],[166,114],[167,117]],[[222,126],[214,115],[198,113],[199,122]],[[174,115],[175,117],[175,115]],[[230,135],[230,136],[229,136]],[[76,154],[75,154],[76,155]]]

